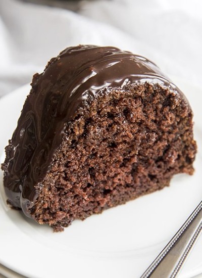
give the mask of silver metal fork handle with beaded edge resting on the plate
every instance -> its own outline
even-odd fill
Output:
[[[202,229],[202,201],[140,278],[174,278]]]

